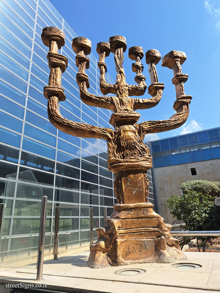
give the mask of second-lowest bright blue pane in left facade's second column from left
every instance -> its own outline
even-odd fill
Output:
[[[25,123],[24,125],[24,135],[36,139],[45,144],[49,144],[52,147],[56,147],[57,138],[49,133],[46,133],[32,125]]]

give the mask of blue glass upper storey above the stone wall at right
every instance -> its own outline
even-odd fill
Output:
[[[153,167],[207,161],[220,158],[220,128],[151,142]]]

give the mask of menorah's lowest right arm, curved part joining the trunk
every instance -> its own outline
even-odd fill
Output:
[[[192,98],[191,96],[189,96]],[[170,119],[167,120],[156,120],[156,121],[146,121],[140,123],[141,132],[144,134],[147,133],[157,133],[168,130],[173,130],[181,125],[183,125],[188,116],[189,116],[189,103],[190,99],[182,100],[181,111],[180,108],[177,110],[177,113],[172,115]]]

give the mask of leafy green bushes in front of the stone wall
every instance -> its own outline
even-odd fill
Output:
[[[182,183],[183,195],[174,194],[167,200],[170,213],[186,223],[186,230],[220,230],[220,207],[214,204],[215,197],[220,193],[219,187],[219,182],[207,180]]]

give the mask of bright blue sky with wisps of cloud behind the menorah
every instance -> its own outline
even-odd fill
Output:
[[[141,46],[144,53],[157,49],[162,57],[171,50],[186,53],[182,73],[189,74],[184,84],[185,93],[193,97],[189,117],[182,127],[159,133],[160,138],[219,127],[220,0],[50,1],[78,36],[92,41],[92,54],[97,59],[98,42],[108,41],[113,35],[126,37],[123,65],[128,84],[135,84],[135,73],[131,70],[133,61],[128,58],[129,47]],[[142,63],[149,86],[145,57]],[[106,58],[106,64],[108,73],[115,80],[113,54]],[[175,86],[171,82],[173,71],[161,67],[161,61],[156,69],[165,89],[157,106],[140,110],[146,120],[164,120],[175,113],[172,108],[176,99]],[[147,91],[143,97],[150,97]]]

